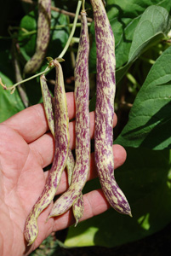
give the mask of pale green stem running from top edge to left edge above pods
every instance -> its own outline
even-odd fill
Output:
[[[66,42],[66,46],[65,48],[62,50],[62,52],[60,53],[60,55],[56,58],[59,62],[62,60],[62,57],[66,54],[66,51],[68,49],[68,47],[70,46],[71,44],[71,39],[73,38],[73,35],[74,35],[74,32],[76,30],[76,26],[77,26],[77,18],[78,18],[78,15],[79,15],[79,12],[80,12],[80,9],[81,9],[81,6],[82,6],[82,3],[83,1],[82,0],[79,0],[78,3],[77,3],[77,10],[76,10],[76,15],[75,15],[75,18],[74,18],[74,21],[73,21],[73,26],[71,28],[71,33],[70,33],[70,36]],[[63,61],[63,60],[62,60]],[[17,87],[19,84],[24,84],[26,83],[27,81],[31,80],[31,79],[35,79],[45,73],[48,73],[51,69],[54,68],[54,62],[53,61],[50,61],[48,63],[48,67],[46,67],[46,69],[41,72],[41,73],[37,73],[33,76],[31,76],[30,78],[28,79],[24,79],[22,81],[20,81],[19,83],[16,83],[16,84],[13,84],[12,86],[9,86],[7,87],[5,84],[3,84],[3,81],[2,79],[0,78],[0,85],[3,86],[3,89],[4,90],[11,90],[11,94],[14,92],[14,88]]]

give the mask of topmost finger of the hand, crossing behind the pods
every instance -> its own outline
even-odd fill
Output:
[[[66,93],[67,108],[69,119],[75,117],[74,93]],[[26,108],[19,113],[14,114],[11,118],[3,122],[4,125],[10,126],[22,136],[26,143],[35,141],[38,137],[48,131],[48,122],[42,104],[37,104]]]

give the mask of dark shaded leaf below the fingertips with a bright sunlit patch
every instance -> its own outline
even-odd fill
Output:
[[[69,247],[115,247],[161,230],[171,220],[169,150],[127,148],[126,163],[115,171],[132,209],[133,218],[110,209],[71,227],[65,245]],[[96,189],[89,182],[86,192]]]

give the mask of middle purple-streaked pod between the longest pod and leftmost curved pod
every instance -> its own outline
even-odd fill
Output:
[[[82,11],[81,36],[75,67],[75,102],[76,102],[76,165],[71,185],[67,191],[55,201],[48,218],[63,214],[81,195],[88,178],[90,165],[90,132],[89,132],[89,79],[88,79],[88,25],[85,11]]]

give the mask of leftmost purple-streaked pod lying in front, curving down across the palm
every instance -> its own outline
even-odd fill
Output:
[[[55,115],[55,147],[54,160],[45,183],[42,194],[36,204],[32,207],[26,218],[24,235],[28,245],[37,238],[37,218],[43,209],[48,207],[54,199],[55,192],[60,184],[61,174],[66,167],[69,150],[69,119],[66,105],[66,91],[64,87],[63,73],[60,63],[55,62],[56,84],[54,87],[54,115]]]

